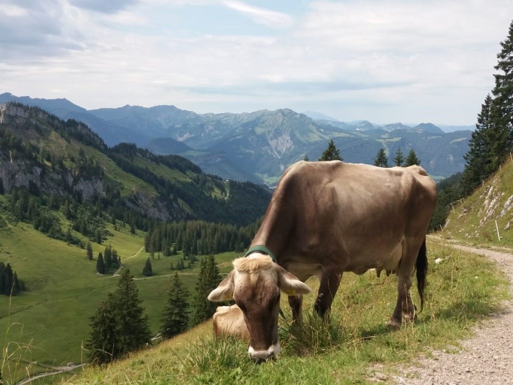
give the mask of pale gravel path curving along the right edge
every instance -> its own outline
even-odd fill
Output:
[[[488,249],[453,244],[467,252],[485,255],[496,261],[513,282],[513,255]],[[512,291],[513,294],[513,291]],[[505,310],[492,315],[475,330],[475,336],[461,342],[457,354],[433,352],[433,358],[420,358],[420,367],[405,367],[399,375],[388,379],[398,384],[453,385],[513,384],[513,304],[505,303]]]

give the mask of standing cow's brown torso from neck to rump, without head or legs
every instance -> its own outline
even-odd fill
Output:
[[[252,244],[301,278],[351,260],[370,266],[405,237],[425,237],[435,204],[436,185],[419,166],[302,161],[284,172]]]

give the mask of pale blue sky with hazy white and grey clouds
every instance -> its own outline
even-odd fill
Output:
[[[0,0],[0,93],[473,125],[511,0]]]

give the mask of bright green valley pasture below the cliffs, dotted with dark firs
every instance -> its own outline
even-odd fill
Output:
[[[60,366],[70,362],[87,361],[82,349],[90,333],[89,317],[97,306],[115,290],[117,276],[98,275],[96,258],[112,246],[129,268],[139,288],[142,306],[149,317],[150,330],[155,335],[160,327],[161,312],[167,298],[171,276],[176,272],[179,256],[163,257],[156,254],[152,259],[152,277],[142,275],[149,253],[144,252],[144,233],[130,234],[129,226],[107,226],[112,236],[103,244],[91,242],[93,261],[86,260],[86,250],[55,241],[37,232],[30,225],[16,223],[0,229],[0,261],[10,263],[27,287],[25,292],[14,296],[0,296],[0,347],[8,347],[8,362],[2,363],[4,383],[12,378],[20,379],[30,373],[45,372],[45,365]],[[76,234],[74,234],[76,235]],[[234,253],[216,256],[221,271],[230,271]],[[188,261],[185,261],[187,265]],[[191,296],[200,271],[200,261],[192,268],[178,273]],[[36,362],[38,364],[36,364]],[[9,369],[7,369],[9,365]],[[10,382],[7,382],[10,383]]]

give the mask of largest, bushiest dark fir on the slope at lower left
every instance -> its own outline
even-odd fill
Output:
[[[143,315],[141,302],[133,276],[125,269],[116,290],[90,317],[91,334],[86,348],[92,363],[108,363],[150,342],[148,316]]]

